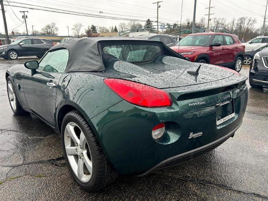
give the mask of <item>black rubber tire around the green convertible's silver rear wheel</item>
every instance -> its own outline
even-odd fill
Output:
[[[87,145],[90,150],[89,153],[92,160],[92,174],[88,182],[82,182],[81,180],[79,180],[69,164],[69,160],[65,150],[65,139],[64,139],[65,127],[66,125],[68,125],[68,123],[75,123],[76,125],[78,125],[87,140]],[[69,170],[72,174],[72,177],[80,185],[82,189],[91,192],[97,191],[104,188],[107,184],[112,183],[117,178],[118,173],[109,164],[103,152],[103,149],[101,148],[100,143],[96,139],[96,136],[94,135],[91,127],[78,110],[68,112],[63,118],[61,125],[61,142],[62,142],[63,154],[66,163],[68,164]]]

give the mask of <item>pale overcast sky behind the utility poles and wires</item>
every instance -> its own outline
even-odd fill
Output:
[[[10,5],[21,5],[24,7],[33,7],[30,5],[16,4],[12,2],[20,2],[36,6],[45,6],[49,8],[57,8],[62,10],[72,10],[76,12],[84,12],[102,16],[123,17],[129,19],[146,20],[150,18],[156,21],[156,4],[152,4],[157,0],[8,0]],[[161,0],[159,0],[161,1]],[[6,0],[4,4],[8,4]],[[163,0],[159,8],[159,21],[164,23],[174,23],[181,19],[181,4],[182,0]],[[197,0],[196,21],[201,17],[207,19],[209,0]],[[233,17],[252,17],[257,19],[256,27],[260,27],[263,23],[263,16],[265,13],[266,0],[211,0],[212,17],[225,17],[230,21]],[[12,10],[11,10],[12,8]],[[36,7],[39,8],[40,7]],[[84,28],[88,25],[94,24],[97,26],[118,26],[122,20],[118,19],[101,19],[94,17],[76,16],[70,14],[54,13],[41,10],[32,10],[28,8],[16,8],[5,6],[6,19],[9,33],[21,24],[22,14],[21,10],[27,10],[28,31],[31,32],[32,25],[34,29],[41,30],[41,28],[51,22],[55,22],[59,28],[59,35],[68,35],[66,26],[69,26],[70,34],[74,23],[80,22]],[[99,12],[103,12],[99,14]],[[14,12],[14,13],[13,13]],[[187,18],[192,20],[194,12],[194,0],[183,0],[182,21]],[[17,15],[17,18],[15,16]],[[267,11],[268,15],[268,11]],[[0,14],[0,32],[4,33],[3,18]],[[125,21],[127,22],[127,21]],[[141,22],[144,24],[144,22]],[[268,21],[267,21],[268,23]],[[156,24],[156,23],[155,23]],[[26,30],[25,23],[17,27],[20,31]]]

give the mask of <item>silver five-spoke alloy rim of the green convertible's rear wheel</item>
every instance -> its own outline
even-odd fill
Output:
[[[85,135],[76,123],[66,125],[64,145],[72,171],[80,181],[88,182],[92,175],[92,158]]]

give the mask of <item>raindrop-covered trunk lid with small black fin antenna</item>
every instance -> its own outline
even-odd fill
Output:
[[[187,73],[196,71],[201,65],[198,76]],[[93,73],[93,72],[92,72]],[[192,63],[183,59],[160,56],[150,63],[133,64],[115,61],[104,72],[94,72],[107,78],[121,78],[156,87],[158,89],[186,87],[203,83],[212,83],[228,78],[234,71],[210,64]],[[209,84],[206,84],[208,86]]]

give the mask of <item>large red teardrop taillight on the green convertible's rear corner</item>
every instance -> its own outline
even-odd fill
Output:
[[[118,96],[141,107],[165,107],[172,105],[169,94],[161,89],[128,80],[107,78],[104,83]]]

